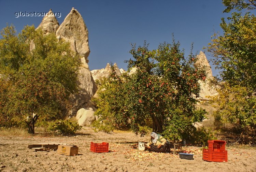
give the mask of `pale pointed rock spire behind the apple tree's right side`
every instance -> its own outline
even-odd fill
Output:
[[[197,61],[195,63],[195,66],[203,65],[206,67],[207,76],[205,78],[205,82],[199,81],[199,83],[201,86],[201,92],[200,92],[201,99],[208,100],[207,96],[217,95],[217,92],[209,84],[210,80],[213,79],[212,69],[205,54],[202,51],[200,51],[199,55],[197,55],[196,58],[197,58]]]

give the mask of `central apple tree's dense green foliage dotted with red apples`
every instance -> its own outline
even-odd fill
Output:
[[[146,43],[132,45],[128,68],[137,71],[121,76],[112,72],[100,81],[95,113],[101,123],[95,126],[113,129],[122,124],[143,135],[143,127],[152,121],[153,131],[177,140],[188,126],[201,121],[205,111],[195,110],[205,67],[197,66],[192,54],[185,58],[179,47],[175,40],[152,51]]]

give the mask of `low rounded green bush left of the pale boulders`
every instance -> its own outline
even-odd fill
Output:
[[[57,134],[75,134],[76,131],[81,130],[82,126],[76,121],[72,120],[56,120],[49,123],[47,128],[48,131],[57,133]]]

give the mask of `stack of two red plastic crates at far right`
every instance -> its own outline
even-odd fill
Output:
[[[208,140],[208,149],[203,149],[203,160],[213,162],[227,162],[228,151],[225,150],[226,141]]]

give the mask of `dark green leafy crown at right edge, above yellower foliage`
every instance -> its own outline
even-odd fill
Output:
[[[222,19],[224,35],[212,39],[208,47],[215,57],[214,64],[221,71],[222,80],[231,86],[249,87],[252,91],[256,90],[255,24],[254,15],[233,13],[229,23]]]

